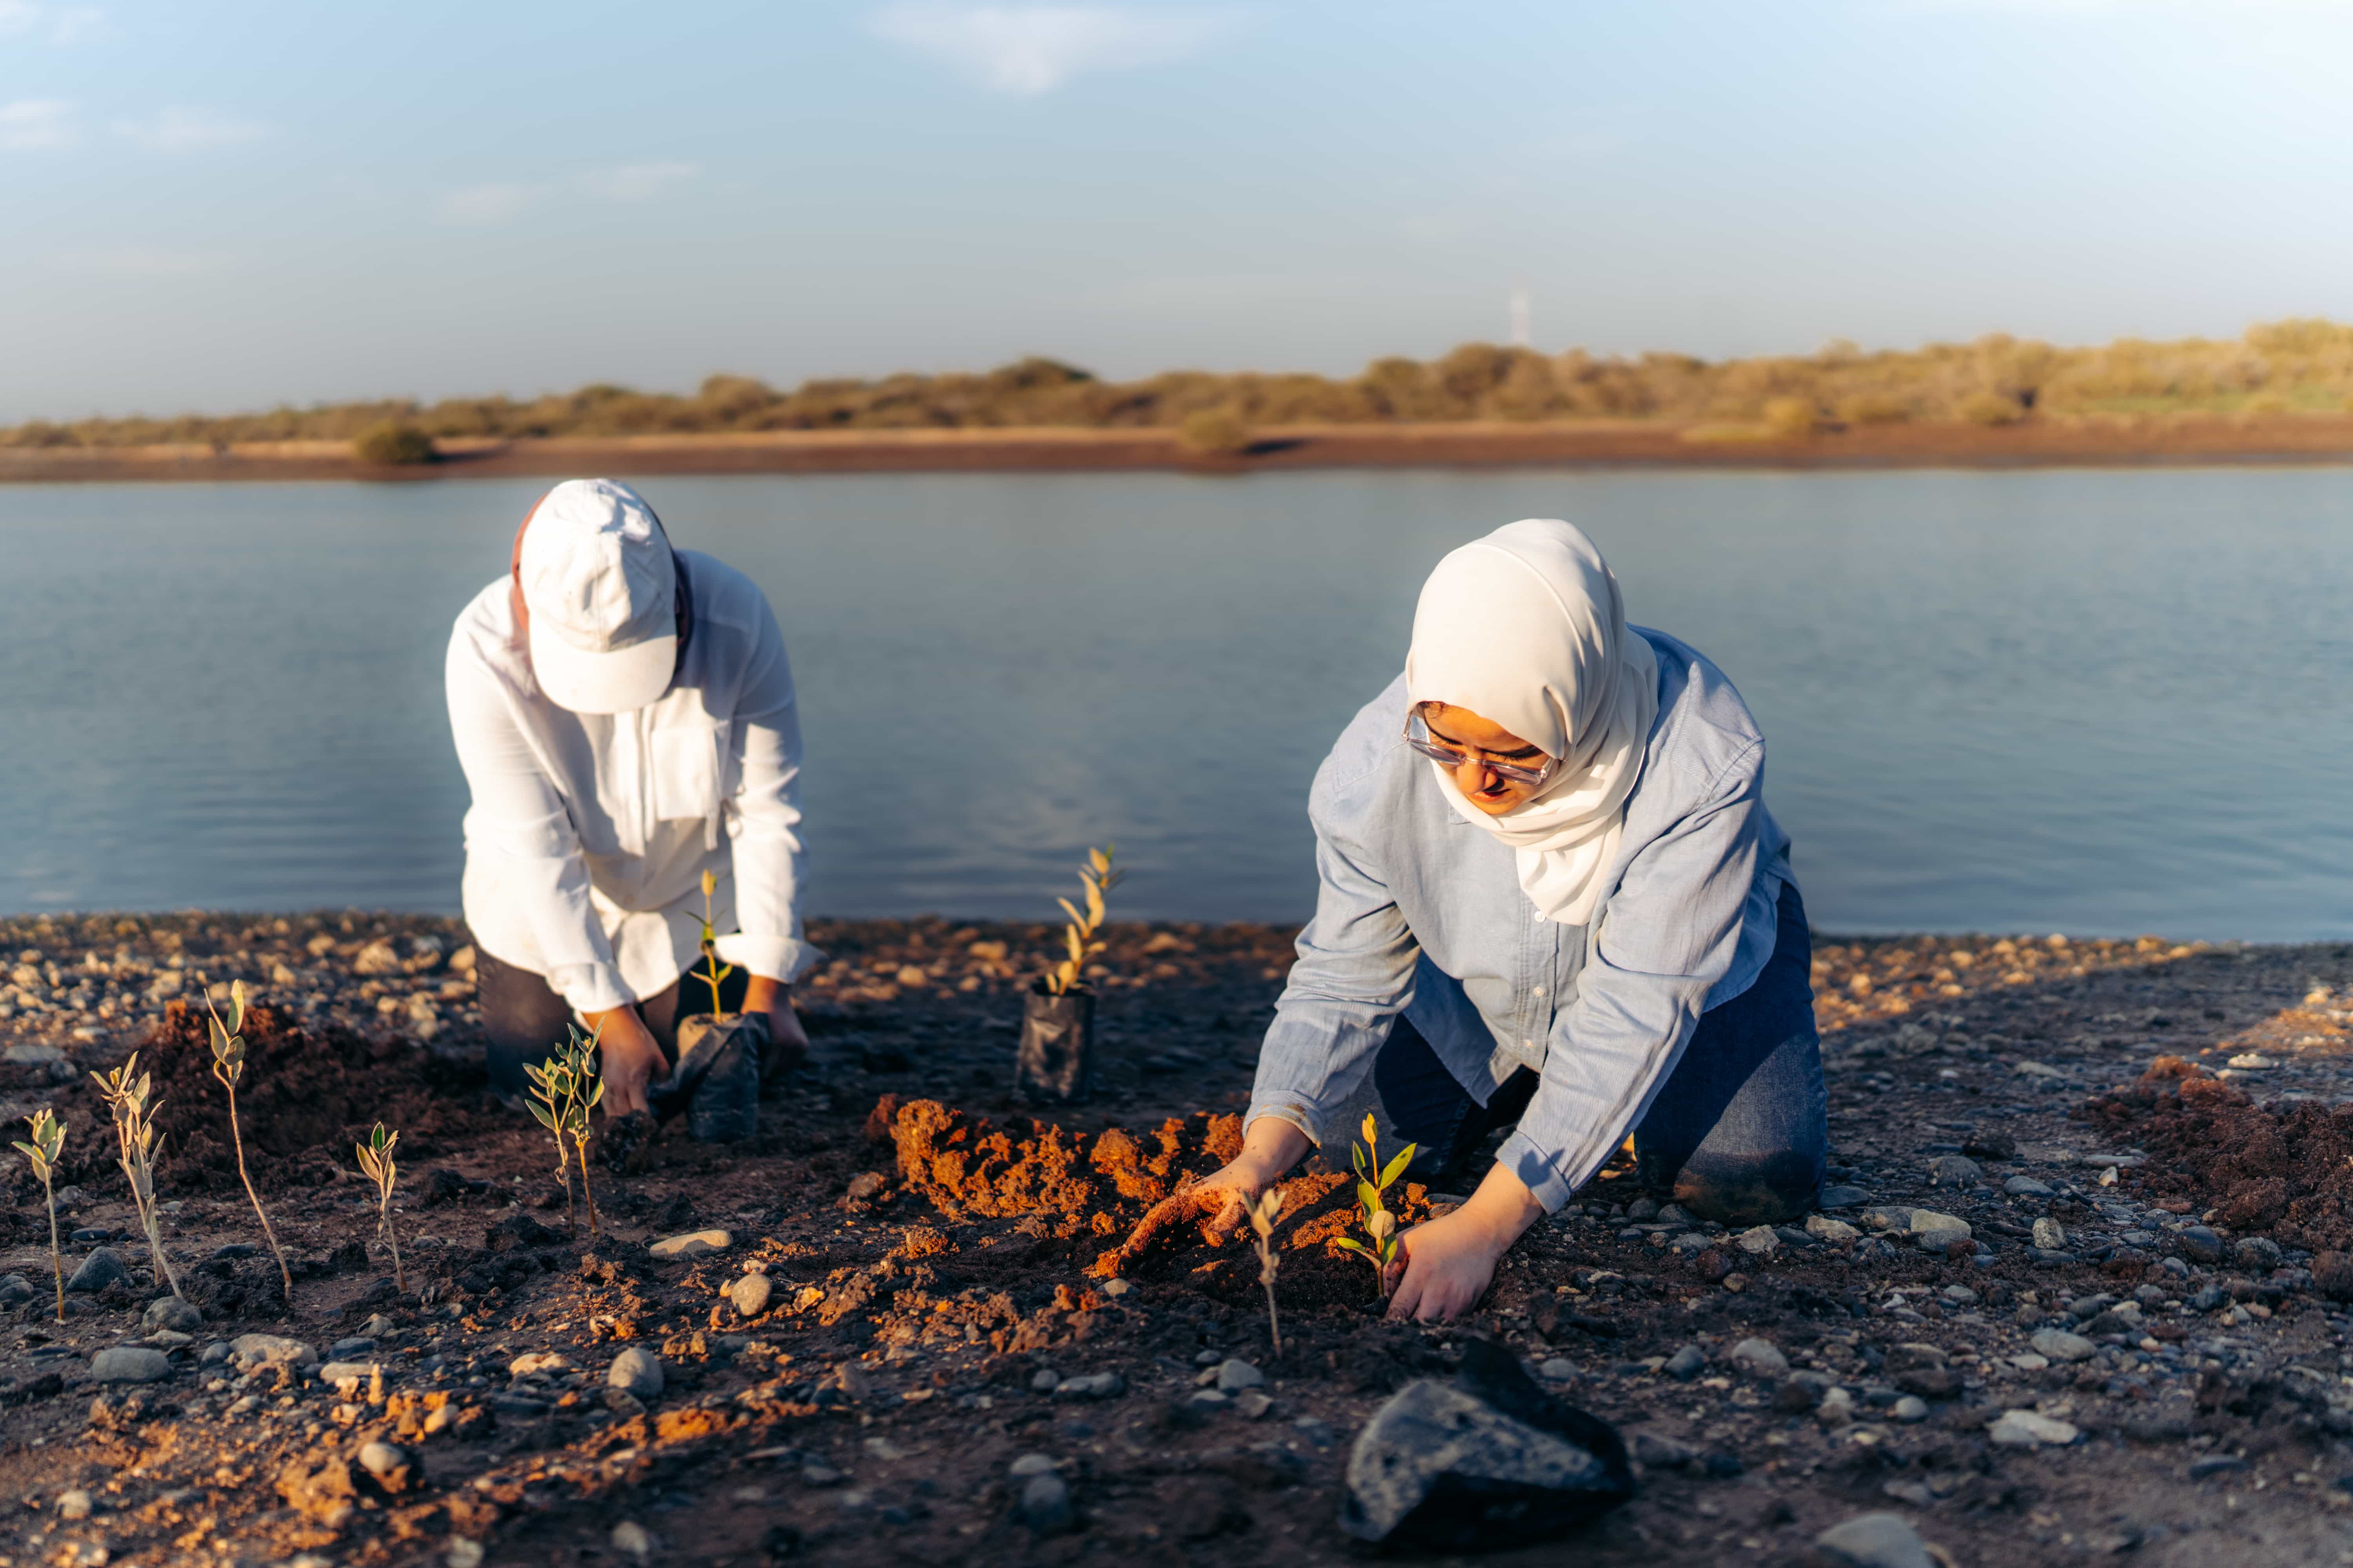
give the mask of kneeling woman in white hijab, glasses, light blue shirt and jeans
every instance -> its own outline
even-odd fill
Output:
[[[1179,1204],[1240,1220],[1372,1072],[1417,1173],[1475,1194],[1405,1234],[1391,1316],[1454,1316],[1633,1133],[1657,1197],[1727,1225],[1812,1208],[1826,1154],[1805,905],[1732,682],[1628,628],[1558,520],[1447,555],[1405,675],[1315,773],[1320,896],[1242,1154]]]

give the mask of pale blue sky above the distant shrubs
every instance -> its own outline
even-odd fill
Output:
[[[0,418],[2353,317],[2353,2],[0,0]]]

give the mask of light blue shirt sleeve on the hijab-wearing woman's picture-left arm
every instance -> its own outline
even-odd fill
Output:
[[[1414,999],[1421,954],[1398,900],[1346,832],[1346,811],[1322,776],[1308,795],[1315,825],[1315,919],[1299,933],[1299,961],[1259,1051],[1247,1126],[1280,1117],[1315,1143],[1348,1103],[1388,1020]],[[1337,1131],[1337,1128],[1334,1128]]]

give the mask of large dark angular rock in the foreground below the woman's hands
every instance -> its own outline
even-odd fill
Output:
[[[1633,1497],[1617,1429],[1546,1394],[1518,1356],[1464,1345],[1454,1382],[1419,1380],[1355,1436],[1341,1528],[1426,1552],[1553,1540]]]

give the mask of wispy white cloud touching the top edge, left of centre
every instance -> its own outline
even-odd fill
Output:
[[[1035,99],[1089,71],[1165,66],[1198,54],[1231,16],[1115,5],[892,5],[873,31],[991,92]]]

